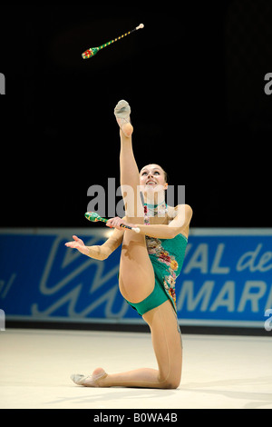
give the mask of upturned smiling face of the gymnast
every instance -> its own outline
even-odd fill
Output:
[[[166,173],[159,164],[148,164],[141,169],[140,184],[143,194],[158,203],[158,198],[164,198],[164,191],[168,187]]]

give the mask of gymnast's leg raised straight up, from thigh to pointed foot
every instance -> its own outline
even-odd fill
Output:
[[[121,103],[120,110],[123,115],[124,109],[128,109],[129,106],[127,103],[124,104],[125,101]],[[117,107],[115,109],[115,114],[116,110]],[[131,134],[133,128],[128,120],[129,115],[126,117],[126,122],[124,124],[122,122],[124,119],[120,119],[118,113],[116,116],[121,126],[120,177],[127,220],[129,223],[143,223],[139,169],[132,149]],[[154,283],[154,272],[146,249],[145,236],[142,234],[125,232],[120,262],[121,294],[131,303],[140,303],[152,293]]]

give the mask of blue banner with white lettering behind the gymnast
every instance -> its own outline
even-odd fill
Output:
[[[111,231],[110,231],[111,232]],[[6,319],[142,322],[118,288],[120,248],[104,262],[64,246],[71,230],[0,231]],[[108,230],[81,229],[86,245]],[[176,284],[180,324],[264,327],[272,309],[272,230],[192,230]]]

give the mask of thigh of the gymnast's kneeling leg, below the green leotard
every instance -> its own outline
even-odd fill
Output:
[[[145,313],[143,319],[151,328],[160,382],[166,387],[179,387],[182,368],[180,326],[170,301]]]

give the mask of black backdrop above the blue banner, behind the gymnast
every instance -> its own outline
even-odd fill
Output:
[[[138,164],[161,164],[171,185],[186,185],[193,229],[271,226],[270,2],[4,9],[4,233],[104,230],[83,214],[90,186],[107,189],[113,177],[119,186],[120,99],[131,104]],[[88,47],[141,23],[83,61]],[[19,243],[8,244],[16,253]]]

